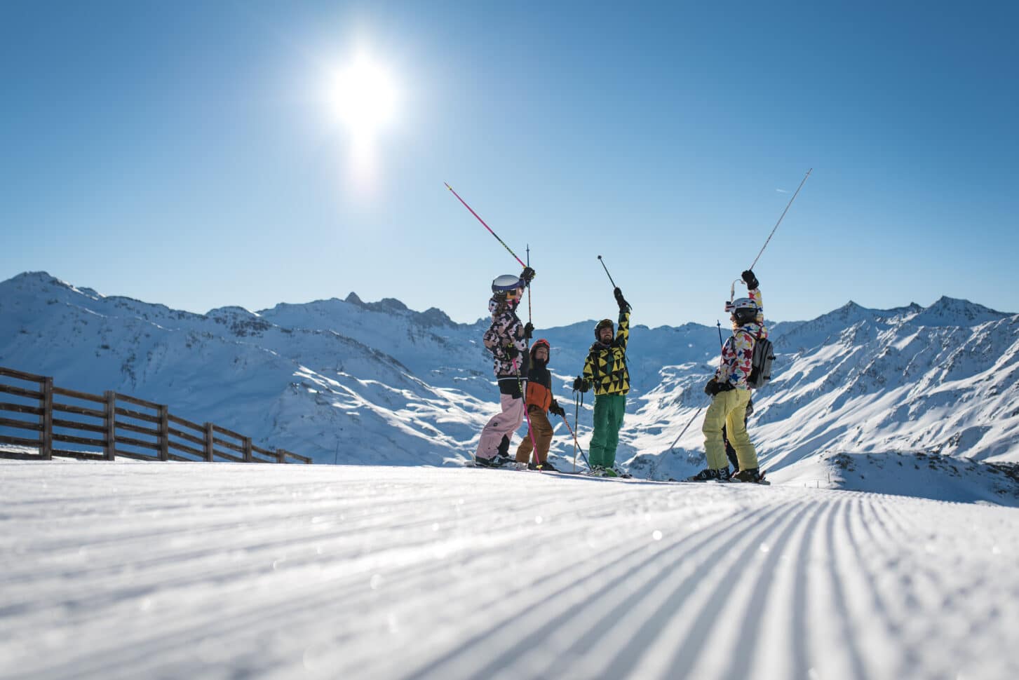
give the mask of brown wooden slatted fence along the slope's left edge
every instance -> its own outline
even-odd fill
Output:
[[[53,456],[70,456],[113,460],[115,456],[122,456],[138,460],[285,463],[292,459],[292,462],[312,462],[311,458],[285,449],[269,451],[255,446],[251,437],[226,428],[177,417],[163,404],[116,392],[97,395],[54,387],[52,378],[3,366],[0,366],[0,378],[8,379],[0,381],[0,398],[3,399],[0,401],[0,444],[39,449],[38,455],[0,451],[2,458],[51,460]],[[13,401],[8,401],[11,399]],[[18,417],[6,417],[8,414]],[[10,431],[17,434],[25,431],[25,436],[4,434]],[[33,437],[28,434],[30,432],[38,435]],[[87,450],[58,449],[58,444],[73,444]]]

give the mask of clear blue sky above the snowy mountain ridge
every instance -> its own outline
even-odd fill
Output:
[[[890,6],[894,5],[894,6]],[[1019,311],[1014,3],[6,2],[0,279],[204,313],[397,297],[535,325],[941,295]],[[398,92],[371,181],[323,93]]]

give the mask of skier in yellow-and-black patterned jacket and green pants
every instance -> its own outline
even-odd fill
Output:
[[[630,339],[630,305],[619,288],[612,291],[620,305],[619,330],[612,337],[612,321],[603,319],[594,328],[595,342],[584,361],[584,375],[574,381],[574,389],[587,392],[594,386],[594,435],[591,437],[591,473],[616,476],[615,447],[630,391],[627,370],[627,342]]]

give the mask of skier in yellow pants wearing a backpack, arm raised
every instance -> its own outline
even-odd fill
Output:
[[[707,469],[690,477],[692,481],[728,480],[731,477],[722,428],[726,428],[740,462],[740,471],[734,478],[740,481],[761,479],[757,451],[747,435],[747,403],[750,401],[747,379],[752,370],[754,344],[767,338],[767,328],[764,326],[764,306],[757,288],[757,277],[747,270],[743,272],[743,281],[747,284],[747,297],[726,305],[726,310],[731,313],[733,335],[721,347],[721,358],[714,377],[704,386],[704,392],[711,397],[703,427]]]

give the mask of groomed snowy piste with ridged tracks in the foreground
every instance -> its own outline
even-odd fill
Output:
[[[0,677],[1019,677],[1019,515],[516,470],[0,461]]]

